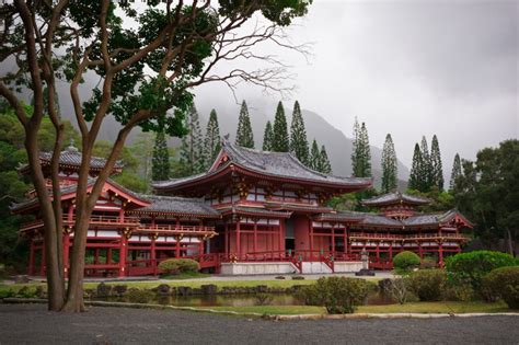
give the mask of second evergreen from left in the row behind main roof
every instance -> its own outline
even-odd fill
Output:
[[[187,114],[187,135],[182,138],[181,164],[185,175],[194,175],[204,172],[204,145],[201,138],[198,112],[193,105]]]

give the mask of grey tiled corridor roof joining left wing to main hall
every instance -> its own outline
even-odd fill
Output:
[[[140,197],[151,203],[149,206],[138,208],[134,212],[138,214],[178,214],[199,215],[220,218],[220,212],[207,205],[201,198],[186,198],[177,196],[143,195]]]

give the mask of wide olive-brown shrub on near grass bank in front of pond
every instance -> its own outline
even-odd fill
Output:
[[[298,297],[309,306],[323,306],[331,314],[353,313],[370,291],[364,279],[328,277],[301,288]]]

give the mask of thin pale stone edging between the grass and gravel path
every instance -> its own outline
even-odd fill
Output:
[[[3,303],[46,303],[42,298],[4,298]],[[437,318],[477,318],[477,317],[519,317],[519,312],[495,312],[495,313],[358,313],[358,314],[297,314],[276,315],[262,314],[258,312],[239,312],[229,310],[203,309],[195,307],[160,306],[149,303],[129,302],[105,302],[84,301],[92,307],[116,307],[116,308],[148,308],[158,310],[187,310],[195,312],[208,312],[216,314],[238,315],[245,318],[263,318],[267,320],[290,321],[290,320],[350,320],[350,319],[437,319]]]

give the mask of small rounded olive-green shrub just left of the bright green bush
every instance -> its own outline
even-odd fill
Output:
[[[438,301],[442,297],[447,274],[442,269],[420,269],[410,275],[408,283],[420,301]]]

